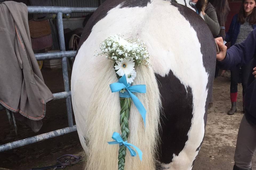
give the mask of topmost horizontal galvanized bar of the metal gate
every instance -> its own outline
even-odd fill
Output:
[[[70,13],[93,13],[97,7],[63,7],[63,6],[28,6],[30,14],[63,14]]]

